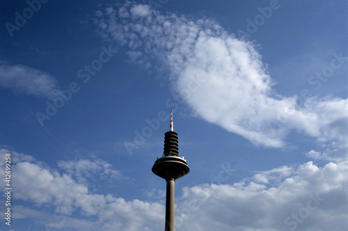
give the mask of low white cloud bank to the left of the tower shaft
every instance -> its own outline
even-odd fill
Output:
[[[36,206],[54,205],[56,212],[65,216],[79,209],[84,216],[97,216],[95,225],[102,223],[98,225],[102,230],[150,230],[151,225],[159,224],[164,214],[164,205],[159,203],[92,194],[70,176],[36,164],[19,163],[13,166],[13,173],[14,178],[18,176],[14,182],[16,200],[29,201]],[[64,224],[59,228],[68,226]],[[79,230],[84,227],[80,225]]]

